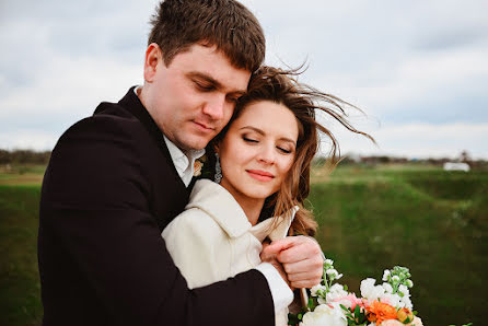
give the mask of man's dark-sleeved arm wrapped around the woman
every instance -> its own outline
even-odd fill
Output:
[[[257,270],[188,290],[150,213],[151,184],[141,167],[149,138],[138,132],[98,118],[59,141],[43,185],[40,229],[77,270],[39,258],[43,278],[56,268],[80,273],[83,295],[93,291],[117,325],[272,325],[271,294]]]

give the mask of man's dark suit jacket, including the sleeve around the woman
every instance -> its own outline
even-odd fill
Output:
[[[42,189],[44,325],[274,325],[257,270],[188,290],[161,237],[188,196],[133,89],[69,128]]]

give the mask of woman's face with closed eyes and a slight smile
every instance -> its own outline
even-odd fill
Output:
[[[247,105],[219,144],[221,185],[237,202],[265,200],[277,193],[293,164],[299,127],[282,104]]]

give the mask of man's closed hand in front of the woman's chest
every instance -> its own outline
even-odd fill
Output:
[[[263,261],[272,264],[272,258],[276,258],[281,263],[292,288],[312,288],[322,280],[324,259],[321,246],[311,237],[288,236],[274,241],[263,247],[260,257]]]

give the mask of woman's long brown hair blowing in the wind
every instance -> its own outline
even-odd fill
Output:
[[[311,211],[305,209],[304,200],[310,193],[311,163],[319,147],[319,131],[330,141],[329,160],[332,166],[337,165],[340,159],[340,149],[336,138],[330,130],[316,120],[316,113],[325,113],[351,132],[365,136],[373,142],[374,139],[370,135],[357,130],[347,120],[344,106],[352,105],[336,96],[299,83],[295,79],[298,74],[300,74],[298,70],[284,71],[272,67],[262,67],[257,70],[251,77],[247,93],[239,100],[230,123],[218,135],[216,141],[224,137],[232,121],[237,119],[252,103],[270,101],[288,107],[294,114],[299,125],[295,156],[280,190],[267,198],[265,203],[267,207],[264,210],[270,210],[274,217],[279,217],[289,212],[294,206],[299,206],[300,210],[293,220],[292,232],[314,235],[317,223]]]

